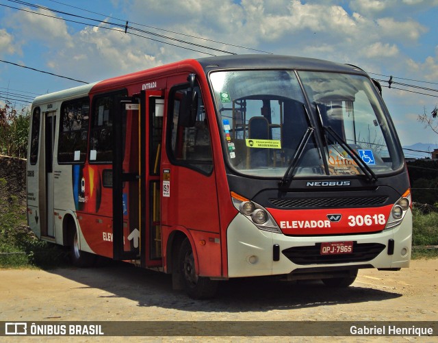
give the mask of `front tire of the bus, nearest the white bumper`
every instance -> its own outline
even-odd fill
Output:
[[[216,294],[218,281],[196,275],[192,246],[188,238],[181,243],[178,255],[178,268],[183,279],[184,290],[190,298],[205,299]]]

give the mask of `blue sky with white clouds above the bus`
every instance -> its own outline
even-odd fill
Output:
[[[438,0],[0,0],[0,104],[185,58],[296,55],[383,80],[402,145],[431,151],[417,117],[438,105],[437,18]]]

